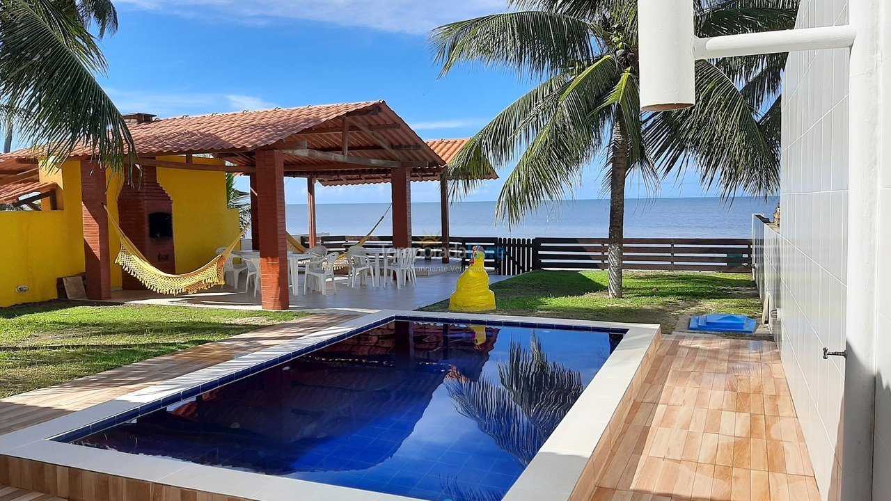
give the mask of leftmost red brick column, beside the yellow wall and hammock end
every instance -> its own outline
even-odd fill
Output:
[[[109,217],[105,212],[105,170],[96,162],[80,162],[81,218],[84,223],[86,297],[111,299]]]

